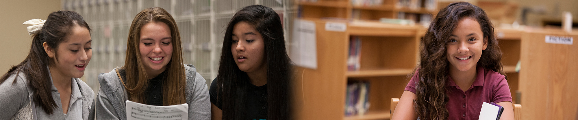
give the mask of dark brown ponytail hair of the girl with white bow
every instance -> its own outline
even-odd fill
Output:
[[[42,29],[32,34],[32,45],[26,59],[18,65],[13,65],[2,75],[0,83],[4,83],[12,75],[23,72],[25,78],[28,79],[28,86],[34,92],[32,96],[34,103],[42,107],[46,113],[53,114],[57,104],[50,94],[52,83],[47,66],[54,65],[55,61],[46,54],[42,44],[46,42],[48,47],[53,48],[56,53],[58,45],[72,34],[75,26],[86,28],[90,33],[90,27],[86,21],[75,11],[60,10],[50,13]],[[56,55],[54,59],[57,59]],[[18,76],[14,78],[12,84],[16,83],[17,78]]]

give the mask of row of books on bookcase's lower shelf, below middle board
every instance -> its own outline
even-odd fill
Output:
[[[345,115],[364,115],[369,110],[369,82],[351,80],[347,83]]]

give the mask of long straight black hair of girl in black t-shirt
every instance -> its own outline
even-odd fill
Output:
[[[217,74],[217,97],[223,100],[223,119],[245,119],[246,84],[249,76],[235,64],[231,53],[233,27],[247,22],[261,33],[265,43],[267,67],[267,112],[271,120],[290,119],[291,64],[285,48],[283,26],[275,10],[262,6],[243,7],[231,18],[223,39]]]

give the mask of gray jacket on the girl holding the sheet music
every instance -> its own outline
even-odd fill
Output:
[[[187,78],[185,97],[188,103],[188,119],[210,119],[211,105],[205,79],[196,72],[193,65],[186,64],[184,68]],[[125,101],[128,96],[118,79],[116,69],[98,75],[101,88],[96,99],[97,119],[127,119]]]

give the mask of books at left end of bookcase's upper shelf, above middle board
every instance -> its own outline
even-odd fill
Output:
[[[361,38],[351,36],[349,39],[349,58],[347,59],[347,71],[358,71],[361,68]]]

